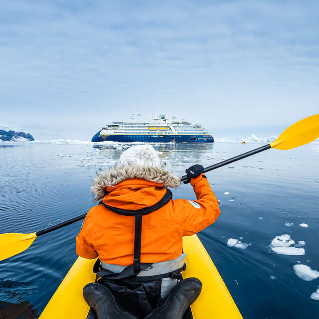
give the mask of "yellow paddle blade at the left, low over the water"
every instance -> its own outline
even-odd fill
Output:
[[[0,261],[11,256],[17,255],[26,250],[36,238],[35,233],[19,234],[8,233],[0,234]]]

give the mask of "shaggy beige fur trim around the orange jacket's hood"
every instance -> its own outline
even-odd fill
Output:
[[[121,181],[133,178],[155,181],[171,188],[177,188],[180,184],[180,178],[177,175],[162,167],[117,164],[109,170],[103,170],[100,174],[97,174],[91,187],[92,193],[95,195],[94,199],[96,201],[101,200],[107,194],[106,187],[112,187]]]

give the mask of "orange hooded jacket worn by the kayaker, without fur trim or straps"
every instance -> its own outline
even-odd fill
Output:
[[[171,199],[160,209],[143,216],[141,262],[156,263],[177,258],[182,237],[193,235],[220,214],[218,201],[207,178],[191,180],[196,201]],[[103,202],[122,209],[141,209],[160,201],[162,184],[144,179],[127,179],[107,187]],[[103,205],[92,207],[76,237],[76,253],[84,258],[128,266],[133,264],[135,217],[119,215]]]

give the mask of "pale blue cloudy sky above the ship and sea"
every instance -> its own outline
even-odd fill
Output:
[[[0,2],[0,123],[89,140],[140,112],[213,136],[319,113],[319,1]]]

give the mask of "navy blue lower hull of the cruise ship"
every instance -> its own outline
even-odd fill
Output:
[[[95,134],[92,138],[92,142],[146,142],[146,143],[213,143],[214,139],[212,136],[203,136],[203,135],[107,135],[107,136],[100,136],[99,131]],[[196,138],[196,139],[194,139]]]

